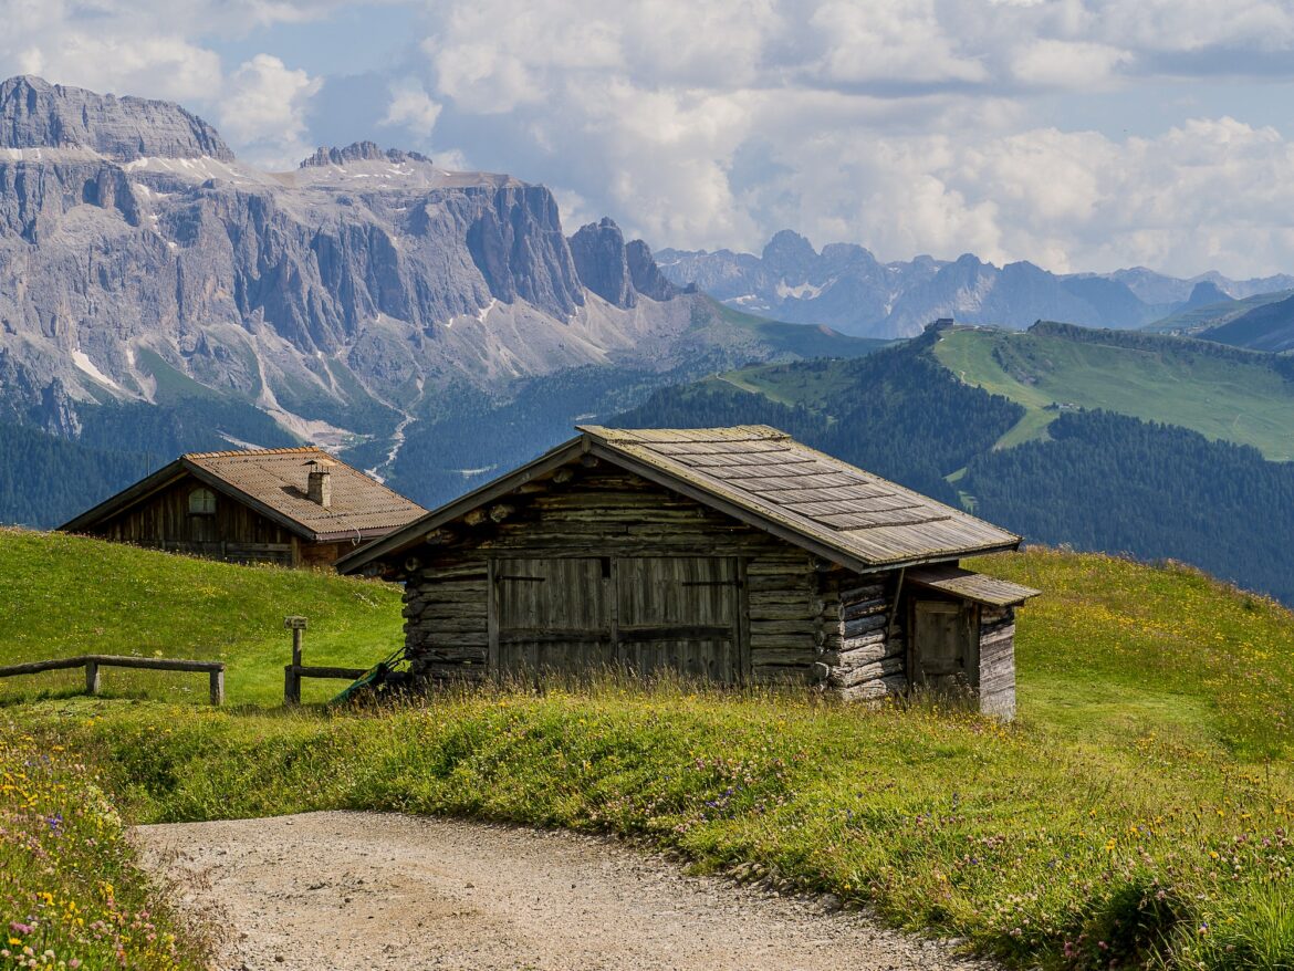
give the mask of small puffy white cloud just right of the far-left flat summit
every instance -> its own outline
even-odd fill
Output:
[[[250,146],[252,161],[291,166],[309,149],[305,110],[321,85],[321,79],[290,69],[272,54],[256,54],[229,78],[220,102],[220,128]]]

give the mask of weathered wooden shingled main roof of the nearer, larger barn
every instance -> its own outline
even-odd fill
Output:
[[[586,425],[577,430],[578,438],[343,558],[338,568],[352,572],[386,553],[415,545],[427,531],[582,453],[603,457],[853,570],[933,563],[1020,545],[1014,533],[811,449],[766,425]]]

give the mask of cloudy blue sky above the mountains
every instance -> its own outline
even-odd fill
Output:
[[[373,139],[568,230],[1294,272],[1294,0],[0,0],[0,74],[182,102],[247,162]]]

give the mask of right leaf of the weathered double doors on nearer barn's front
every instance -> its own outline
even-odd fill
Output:
[[[723,557],[626,557],[616,563],[616,640],[641,675],[740,676],[738,563]]]

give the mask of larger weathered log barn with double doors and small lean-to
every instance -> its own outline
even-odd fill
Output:
[[[960,557],[1020,537],[776,429],[578,438],[352,553],[405,581],[424,678],[628,665],[1014,713],[1014,608]]]

